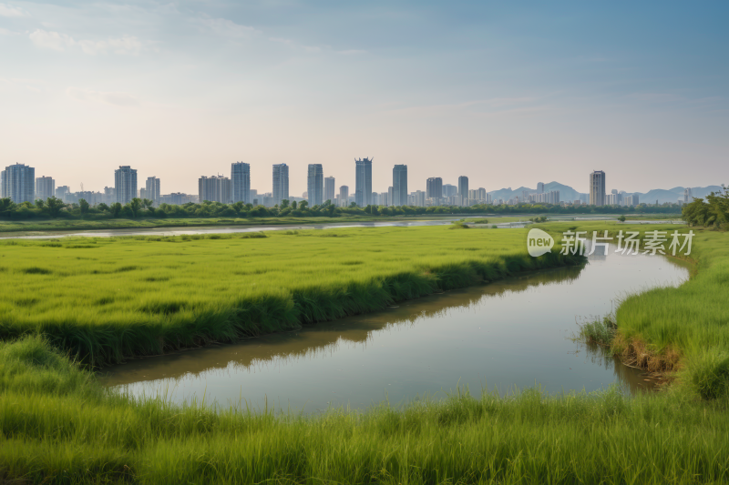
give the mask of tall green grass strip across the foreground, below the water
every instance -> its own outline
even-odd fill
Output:
[[[707,483],[729,414],[615,389],[356,413],[219,412],[101,389],[42,339],[0,344],[0,480],[31,483]]]

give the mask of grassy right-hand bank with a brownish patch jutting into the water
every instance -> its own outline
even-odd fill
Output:
[[[561,233],[569,224],[545,226]],[[607,321],[591,330],[611,335],[614,352],[631,365],[652,371],[677,371],[678,383],[704,399],[729,397],[729,233],[702,227],[582,223],[580,230],[693,230],[686,257],[693,277],[678,288],[653,288],[621,301],[608,331]],[[603,337],[604,338],[604,337]]]

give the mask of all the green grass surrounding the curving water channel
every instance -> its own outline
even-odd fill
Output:
[[[558,235],[574,225],[539,227]],[[580,223],[589,231],[676,228]],[[216,412],[199,402],[178,407],[102,389],[57,350],[120,359],[572,262],[529,258],[526,232],[362,228],[0,243],[0,271],[13,285],[5,286],[0,314],[0,481],[729,480],[726,233],[694,229],[693,278],[626,298],[618,309],[618,343],[642,345],[649,356],[678,355],[679,385],[658,395],[626,398],[613,389],[547,398],[527,389],[508,397],[462,392],[365,413]],[[35,335],[8,339],[24,333]]]

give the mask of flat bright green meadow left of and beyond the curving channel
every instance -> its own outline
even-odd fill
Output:
[[[268,235],[266,237],[266,234]],[[0,338],[42,333],[96,364],[300,328],[580,258],[523,231],[351,228],[0,241]]]

